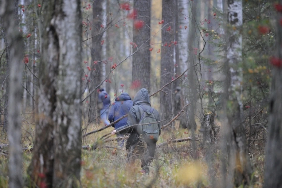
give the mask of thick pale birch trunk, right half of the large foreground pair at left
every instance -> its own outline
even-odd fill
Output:
[[[81,12],[79,0],[63,0],[60,16],[54,17],[60,55],[55,133],[53,187],[78,186],[81,160]],[[63,16],[64,15],[64,16]],[[60,174],[63,174],[61,176]],[[70,178],[72,177],[72,178]]]

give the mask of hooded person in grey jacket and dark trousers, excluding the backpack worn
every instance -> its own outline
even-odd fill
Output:
[[[141,172],[149,173],[149,166],[152,162],[155,149],[156,149],[156,141],[155,140],[145,140],[142,135],[137,132],[137,126],[140,122],[142,115],[145,113],[151,113],[156,118],[156,122],[160,121],[159,112],[151,107],[150,98],[148,90],[142,88],[137,92],[133,99],[133,106],[130,108],[128,113],[128,119],[126,125],[113,130],[112,134],[115,134],[117,131],[125,128],[126,132],[130,133],[129,138],[126,142],[126,152],[127,152],[127,162],[130,164],[134,164],[137,157],[142,156],[141,159]],[[132,126],[133,125],[133,126]],[[158,134],[161,133],[160,123],[157,124]]]

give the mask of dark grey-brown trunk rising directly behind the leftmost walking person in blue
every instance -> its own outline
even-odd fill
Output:
[[[103,66],[101,62],[101,54],[102,54],[102,46],[101,46],[101,39],[103,36],[103,33],[101,33],[101,24],[102,24],[102,0],[96,0],[93,4],[93,27],[91,29],[92,33],[92,48],[91,48],[91,63],[94,63],[94,61],[98,61],[97,63],[95,62],[93,66],[91,66],[91,73],[90,73],[90,91],[95,89],[97,85],[101,83],[101,77],[102,77],[102,72],[103,72]],[[98,34],[101,33],[101,34]],[[90,96],[90,110],[89,110],[89,122],[93,121],[95,117],[98,116],[98,111],[97,111],[97,101],[98,101],[98,92],[93,92],[93,94]]]

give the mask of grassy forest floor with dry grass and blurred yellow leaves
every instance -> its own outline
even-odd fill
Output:
[[[98,127],[89,127],[87,132],[95,130]],[[34,129],[29,126],[29,128],[24,128],[23,130],[23,143],[25,147],[31,148],[34,132],[27,134],[25,133],[27,130],[28,132],[33,132]],[[83,139],[83,145],[92,145],[97,138],[100,138],[102,135],[112,130],[113,128],[110,127],[96,134],[89,135]],[[157,145],[172,139],[189,136],[191,135],[187,129],[162,131]],[[200,134],[196,133],[196,136],[201,138]],[[0,143],[8,142],[6,139],[2,138]],[[192,157],[192,141],[157,147],[149,175],[142,175],[140,173],[140,160],[137,160],[134,166],[126,164],[125,148],[117,147],[116,141],[104,143],[103,146],[110,146],[111,148],[98,147],[98,149],[92,151],[82,150],[82,187],[211,187],[211,175],[214,174],[216,179],[214,181],[215,185],[219,183],[217,180],[221,177],[219,146],[215,145],[211,147],[212,162],[208,164],[208,159],[205,157],[205,149],[201,149],[201,139],[196,141],[196,157],[198,160],[193,160]],[[8,148],[2,148],[1,150],[8,151]],[[252,156],[251,160],[254,166],[253,177],[256,177],[256,182],[254,182],[253,187],[262,187],[264,156],[257,155],[255,152]],[[25,175],[26,169],[31,162],[31,157],[32,152],[26,150],[23,155]],[[7,157],[1,154],[0,187],[3,188],[8,188],[7,163]]]

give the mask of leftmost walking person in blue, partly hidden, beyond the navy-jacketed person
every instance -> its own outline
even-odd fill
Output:
[[[110,122],[107,119],[109,114],[110,103],[111,100],[108,93],[103,88],[99,89],[98,108],[100,110],[100,118],[105,123],[105,125],[110,124]]]

